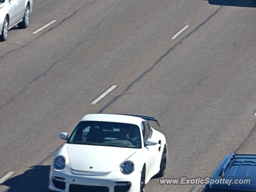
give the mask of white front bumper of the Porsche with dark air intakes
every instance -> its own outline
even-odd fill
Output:
[[[141,172],[136,172],[135,170],[129,175],[122,174],[122,172],[120,172],[119,170],[112,171],[106,175],[86,175],[74,174],[71,171],[67,170],[60,171],[51,167],[49,189],[58,192],[69,192],[70,185],[77,184],[86,186],[106,186],[109,188],[109,192],[119,192],[120,190],[114,190],[115,186],[127,185],[127,183],[130,183],[130,188],[126,191],[138,192],[140,190],[140,176]],[[54,186],[53,179],[64,182],[65,189],[60,189]]]

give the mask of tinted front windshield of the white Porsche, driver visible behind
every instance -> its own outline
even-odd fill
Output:
[[[74,129],[68,143],[141,148],[139,127],[117,122],[82,121]]]

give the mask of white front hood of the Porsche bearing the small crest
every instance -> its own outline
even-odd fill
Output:
[[[67,148],[71,168],[90,172],[111,172],[138,150],[80,144],[68,144]]]

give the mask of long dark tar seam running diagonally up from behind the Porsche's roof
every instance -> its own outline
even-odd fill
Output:
[[[226,3],[228,3],[230,0],[226,1],[223,5],[225,5]],[[206,18],[206,20],[204,20],[201,24],[199,24],[194,30],[192,30],[189,34],[187,34],[185,37],[183,37],[179,42],[177,42],[174,46],[170,47],[156,62],[154,62],[154,64],[145,72],[143,72],[140,76],[138,76],[138,78],[136,78],[133,82],[131,82],[127,88],[118,96],[114,97],[110,102],[108,102],[103,108],[101,108],[98,113],[102,113],[106,108],[108,108],[108,106],[110,106],[110,104],[114,103],[116,100],[118,100],[118,98],[120,98],[121,96],[123,96],[136,82],[140,81],[140,79],[146,75],[148,72],[152,71],[152,69],[159,63],[162,61],[162,59],[168,55],[174,48],[176,48],[176,46],[182,44],[182,42],[184,40],[186,40],[191,34],[193,34],[194,32],[196,32],[200,27],[202,27],[206,22],[208,22],[208,20],[210,20],[214,15],[216,15],[220,9],[223,6],[220,6],[215,12],[213,12],[208,18]]]

